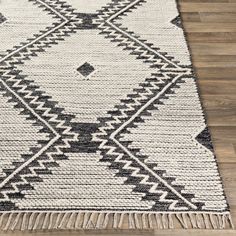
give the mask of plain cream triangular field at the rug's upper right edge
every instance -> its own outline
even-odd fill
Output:
[[[120,24],[120,29],[132,32],[133,37],[145,41],[154,50],[171,57],[175,63],[189,66],[187,44],[178,43],[185,42],[185,38],[182,27],[176,22],[179,13],[175,2],[147,0],[139,1],[138,4],[140,7],[135,11],[126,11],[114,23]]]

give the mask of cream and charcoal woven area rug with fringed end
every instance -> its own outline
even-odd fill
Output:
[[[230,228],[174,0],[0,2],[0,228]]]

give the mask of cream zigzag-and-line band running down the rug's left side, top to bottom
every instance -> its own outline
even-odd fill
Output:
[[[35,0],[34,2],[40,4],[44,9],[52,11],[57,17],[60,17],[63,22],[52,29],[43,31],[42,35],[36,35],[36,38],[29,40],[30,42],[28,44],[16,48],[15,51],[10,52],[2,58],[0,62],[4,62],[4,66],[0,67],[0,73],[2,74],[1,82],[9,92],[24,104],[26,109],[33,113],[35,118],[39,119],[44,123],[44,125],[46,125],[46,127],[48,127],[49,130],[51,130],[54,134],[54,138],[52,138],[48,144],[42,147],[42,149],[26,162],[20,163],[20,166],[15,168],[14,171],[8,175],[3,182],[1,182],[0,188],[3,188],[6,184],[10,184],[12,190],[2,190],[1,193],[4,198],[0,199],[0,202],[9,200],[9,194],[19,192],[18,186],[28,184],[27,178],[38,177],[37,170],[47,169],[46,166],[49,163],[55,163],[55,158],[57,156],[60,157],[64,153],[62,150],[70,148],[70,143],[76,142],[79,136],[77,133],[71,131],[71,126],[65,125],[67,121],[59,119],[58,114],[52,112],[52,108],[47,107],[45,102],[39,100],[41,96],[35,96],[34,92],[31,89],[28,89],[28,85],[22,84],[22,80],[15,75],[17,71],[14,72],[11,69],[12,65],[22,63],[24,60],[27,60],[29,56],[34,56],[35,53],[43,51],[43,48],[48,47],[50,44],[55,44],[56,41],[63,39],[68,35],[68,33],[74,32],[74,28],[77,27],[74,23],[67,25],[69,22],[68,19],[71,20],[77,16],[73,14],[74,10],[72,8],[63,8],[65,2],[41,0]],[[62,11],[60,12],[60,10]],[[62,140],[59,141],[60,139]],[[58,144],[55,145],[56,143]],[[46,152],[47,149],[53,146],[53,144],[55,145],[54,151]],[[37,160],[39,156],[45,152],[45,159]],[[39,166],[29,167],[29,174],[19,175],[23,169],[35,160]],[[20,180],[17,182],[11,182],[16,175]]]

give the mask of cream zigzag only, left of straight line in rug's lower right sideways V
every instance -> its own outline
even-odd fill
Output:
[[[117,144],[109,139],[109,137],[111,138],[114,130],[117,130],[119,126],[128,120],[128,118],[131,117],[131,115],[134,114],[140,107],[142,107],[145,102],[149,101],[158,91],[162,90],[163,81],[165,81],[166,84],[171,81],[167,75],[163,74],[159,75],[157,78],[149,78],[145,83],[141,84],[142,91],[138,90],[137,94],[130,95],[130,101],[124,101],[124,103],[121,104],[122,108],[119,107],[118,109],[119,113],[115,115],[113,114],[112,119],[105,122],[101,119],[101,123],[105,123],[105,125],[99,128],[99,133],[94,134],[94,141],[101,142],[99,148],[102,151],[102,155],[104,157],[103,160],[111,162],[111,168],[118,168],[120,170],[118,175],[129,172],[129,174],[126,175],[128,177],[127,182],[129,183],[129,178],[132,178],[133,181],[130,181],[130,183],[133,183],[134,181],[136,182],[136,191],[141,190],[143,192],[144,189],[146,190],[146,196],[144,199],[155,199],[155,202],[157,203],[162,202],[163,204],[168,204],[168,209],[171,210],[187,210],[189,208],[186,206],[183,207],[185,203],[183,203],[182,200],[173,200],[172,198],[168,198],[169,189],[167,191],[163,191],[165,186],[156,178],[154,178],[154,182],[150,181],[150,173],[145,173],[142,166],[131,160],[129,155],[125,155],[124,151],[118,148]],[[148,115],[148,111],[145,112]],[[139,121],[139,119],[137,121]],[[139,157],[139,159],[143,159],[142,162],[144,163],[145,157]],[[148,165],[148,168],[152,169],[152,165]],[[163,173],[158,173],[159,175],[161,174],[162,179],[164,179]],[[171,180],[169,179],[167,182],[171,182]],[[179,189],[183,189],[183,187],[179,186]],[[156,194],[160,194],[158,201],[156,201]],[[180,202],[182,205],[177,206]],[[153,209],[157,208],[160,210],[160,207],[161,206],[157,204],[153,207]]]

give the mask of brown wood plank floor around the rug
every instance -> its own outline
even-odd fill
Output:
[[[236,0],[179,0],[179,5],[199,78],[201,99],[236,225]],[[235,236],[236,231],[54,231],[29,234]],[[6,235],[20,236],[28,233]]]

